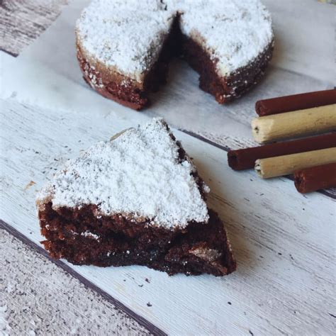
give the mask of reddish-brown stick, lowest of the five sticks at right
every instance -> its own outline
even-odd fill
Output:
[[[294,183],[302,194],[336,187],[336,163],[298,170],[294,173]]]

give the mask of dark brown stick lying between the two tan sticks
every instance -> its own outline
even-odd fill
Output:
[[[336,133],[318,135],[315,137],[277,142],[269,145],[250,147],[243,150],[230,150],[228,164],[232,169],[244,170],[254,168],[257,159],[266,157],[279,157],[281,155],[322,150],[323,148],[336,147]]]

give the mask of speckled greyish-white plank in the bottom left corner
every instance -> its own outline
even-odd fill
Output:
[[[0,255],[1,335],[150,335],[2,228]]]

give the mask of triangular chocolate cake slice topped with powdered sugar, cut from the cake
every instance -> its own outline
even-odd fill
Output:
[[[235,259],[207,192],[167,124],[153,119],[55,174],[37,200],[43,244],[74,264],[229,274]]]

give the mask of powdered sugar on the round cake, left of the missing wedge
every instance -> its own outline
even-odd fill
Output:
[[[174,15],[159,0],[93,0],[77,21],[91,57],[142,82],[154,64]]]

